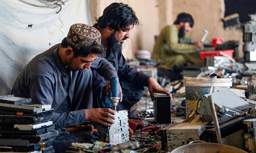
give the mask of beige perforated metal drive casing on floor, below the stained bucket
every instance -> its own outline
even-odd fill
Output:
[[[161,130],[162,149],[166,152],[199,140],[208,122],[176,123]]]

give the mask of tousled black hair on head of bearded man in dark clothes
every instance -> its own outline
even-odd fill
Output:
[[[126,31],[127,26],[140,24],[132,8],[123,3],[110,4],[96,21],[101,29],[108,26],[115,31],[120,29]]]

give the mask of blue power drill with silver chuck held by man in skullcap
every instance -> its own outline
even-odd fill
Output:
[[[111,77],[109,81],[109,100],[113,106],[113,110],[116,112],[116,106],[120,99],[119,79],[118,77]]]

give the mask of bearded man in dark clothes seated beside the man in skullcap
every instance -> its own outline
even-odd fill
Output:
[[[138,106],[138,101],[143,95],[143,86],[148,86],[152,101],[154,92],[164,93],[171,96],[170,92],[164,90],[157,81],[136,69],[129,67],[122,54],[122,43],[130,38],[130,30],[134,25],[139,24],[131,7],[123,3],[112,3],[103,11],[94,27],[101,33],[101,43],[106,47],[105,54],[99,57],[108,60],[116,69],[123,92],[123,101],[117,105],[117,110],[127,109],[130,111],[129,117],[132,118],[132,111]],[[111,107],[108,97],[105,94],[107,80],[100,77],[93,71],[93,97],[94,107]],[[172,99],[172,97],[171,97]],[[135,104],[135,105],[134,105]]]

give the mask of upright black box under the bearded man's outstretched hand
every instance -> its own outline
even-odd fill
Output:
[[[155,123],[171,123],[171,98],[166,95],[157,95],[154,100]]]

